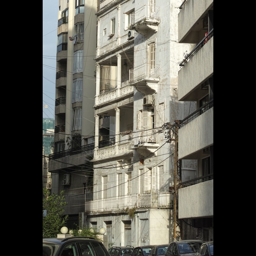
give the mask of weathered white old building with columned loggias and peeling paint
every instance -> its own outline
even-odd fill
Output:
[[[85,224],[114,245],[173,241],[175,134],[170,122],[195,110],[178,102],[180,1],[99,2],[93,200]],[[195,178],[183,160],[183,180]],[[178,230],[180,232],[180,230]]]

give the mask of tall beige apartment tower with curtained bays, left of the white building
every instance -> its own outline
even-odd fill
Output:
[[[94,139],[96,10],[96,0],[59,0],[55,137],[49,171],[54,174],[52,192],[65,191],[69,228],[84,213],[86,155]]]

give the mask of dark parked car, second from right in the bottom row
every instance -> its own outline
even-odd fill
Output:
[[[166,256],[194,256],[203,244],[201,240],[181,240],[171,242],[165,252]]]

